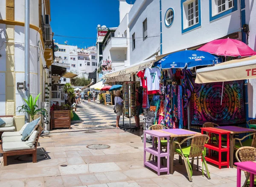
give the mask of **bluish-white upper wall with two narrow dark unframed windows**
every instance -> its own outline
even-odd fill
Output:
[[[180,1],[179,1],[180,2]],[[159,0],[136,0],[129,12],[130,64],[143,61],[160,48]],[[148,38],[143,41],[143,21],[148,21]],[[135,32],[136,47],[132,49],[132,34]]]

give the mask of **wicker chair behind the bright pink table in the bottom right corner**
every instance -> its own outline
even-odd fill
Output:
[[[255,147],[240,147],[236,151],[236,159],[239,162],[241,162],[241,161],[256,161],[256,148]],[[245,187],[247,184],[250,184],[250,181],[248,181],[248,179],[250,178],[250,173],[248,173],[247,171],[244,171],[244,174],[246,176],[246,180],[244,181],[243,187]],[[256,185],[256,175],[254,176],[254,185]]]

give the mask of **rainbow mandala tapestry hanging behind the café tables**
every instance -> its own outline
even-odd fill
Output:
[[[224,82],[221,104],[222,82],[195,84],[190,102],[191,125],[213,122],[230,125],[245,122],[244,81]]]

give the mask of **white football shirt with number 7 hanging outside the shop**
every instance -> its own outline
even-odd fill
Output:
[[[144,78],[147,79],[148,94],[157,94],[159,91],[161,72],[159,68],[146,68]]]

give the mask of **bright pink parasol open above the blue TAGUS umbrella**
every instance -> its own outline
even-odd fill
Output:
[[[199,51],[206,51],[211,54],[216,54],[219,56],[230,56],[230,57],[248,57],[256,55],[248,45],[239,40],[234,40],[230,38],[213,40],[203,45],[198,49]]]

